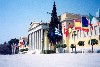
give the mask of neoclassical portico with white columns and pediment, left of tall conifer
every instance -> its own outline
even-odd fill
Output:
[[[32,22],[28,30],[29,50],[46,50],[48,24],[43,22]]]

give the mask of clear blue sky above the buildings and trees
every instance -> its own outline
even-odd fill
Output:
[[[27,36],[31,21],[49,21],[54,1],[57,15],[95,15],[100,8],[100,0],[0,0],[0,43]]]

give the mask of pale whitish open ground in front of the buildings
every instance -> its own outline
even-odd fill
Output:
[[[0,55],[0,67],[100,67],[100,54]]]

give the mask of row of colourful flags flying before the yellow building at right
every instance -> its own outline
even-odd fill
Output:
[[[83,30],[84,32],[89,32],[89,26],[93,30],[92,24],[97,23],[97,22],[99,22],[99,21],[91,14],[89,14],[89,19],[82,16],[81,21],[76,20],[76,19],[74,20],[74,29],[75,30]],[[68,25],[68,29],[66,27],[64,27],[64,34],[66,34],[66,37],[71,32],[72,32],[72,25],[71,24]]]

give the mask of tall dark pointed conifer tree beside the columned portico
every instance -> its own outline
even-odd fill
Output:
[[[55,34],[55,28],[57,28],[58,32],[62,35],[61,22],[58,20],[57,12],[56,12],[56,5],[55,5],[55,2],[54,2],[53,10],[52,10],[52,13],[51,13],[51,21],[50,21],[49,30],[48,30],[49,42],[53,43],[53,44],[56,44],[56,42],[59,42],[59,41],[62,40],[61,35]]]

